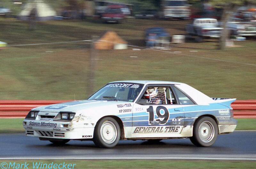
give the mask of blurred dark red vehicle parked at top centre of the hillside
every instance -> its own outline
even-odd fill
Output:
[[[124,19],[124,13],[122,12],[121,5],[109,5],[105,13],[102,13],[101,19],[104,22],[116,22],[121,23]]]

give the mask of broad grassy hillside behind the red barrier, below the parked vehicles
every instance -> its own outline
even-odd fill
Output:
[[[171,35],[185,34],[188,21],[128,19],[124,24],[100,21],[38,22],[35,31],[28,23],[0,19],[0,40],[9,45],[91,39],[107,30],[116,31],[131,45],[144,46],[148,27],[164,27]],[[217,42],[188,42],[172,45],[171,52],[152,50],[97,51],[94,90],[109,81],[165,80],[188,83],[208,96],[255,99],[255,40],[235,42],[242,47],[216,50]],[[2,99],[84,99],[89,69],[89,44],[85,42],[24,47],[0,51],[0,100]],[[198,52],[190,52],[196,50]],[[46,52],[52,51],[52,52]],[[169,52],[167,51],[167,52]],[[198,58],[190,55],[196,55]],[[137,56],[138,58],[130,58]],[[231,62],[209,60],[222,59]]]

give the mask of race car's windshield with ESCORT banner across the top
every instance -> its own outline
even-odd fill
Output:
[[[142,88],[142,84],[110,83],[94,93],[88,98],[88,100],[118,100],[134,102]]]

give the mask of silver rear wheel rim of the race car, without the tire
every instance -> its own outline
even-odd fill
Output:
[[[198,133],[201,141],[211,142],[215,135],[212,122],[204,121],[203,123],[201,123],[198,129]]]

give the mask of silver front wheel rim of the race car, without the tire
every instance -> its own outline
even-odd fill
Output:
[[[116,125],[111,121],[105,121],[100,127],[100,136],[108,144],[115,142],[117,138]]]

